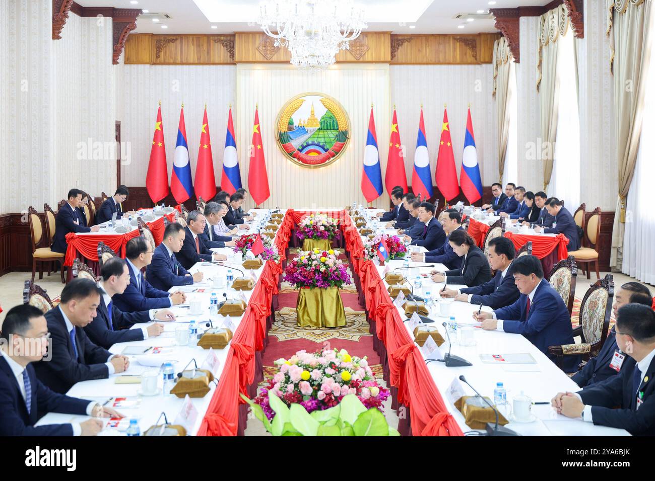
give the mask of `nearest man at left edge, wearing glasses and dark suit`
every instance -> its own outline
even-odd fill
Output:
[[[48,412],[123,417],[96,401],[55,393],[39,381],[31,363],[43,359],[48,338],[41,310],[22,304],[7,312],[0,333],[0,436],[94,436],[103,426],[100,419],[35,426]]]

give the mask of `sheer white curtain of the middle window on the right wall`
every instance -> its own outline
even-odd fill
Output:
[[[571,212],[580,205],[580,117],[578,91],[573,87],[576,85],[573,41],[573,33],[569,29],[557,42],[557,75],[562,87],[557,98],[557,135],[553,152],[553,173],[548,185],[548,194],[565,200],[565,205]]]

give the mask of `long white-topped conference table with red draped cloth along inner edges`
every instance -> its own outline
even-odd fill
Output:
[[[317,211],[326,212],[322,209]],[[264,215],[266,212],[257,210],[258,215]],[[371,216],[375,212],[374,209],[367,209],[365,215]],[[255,271],[257,282],[253,290],[240,291],[246,298],[248,308],[243,315],[231,318],[235,327],[231,342],[224,349],[214,350],[219,360],[219,365],[215,370],[217,382],[210,384],[210,392],[204,397],[191,399],[197,414],[195,419],[193,416],[191,418],[193,425],[187,429],[188,435],[240,435],[243,433],[247,423],[248,408],[247,404],[240,401],[238,394],[244,393],[252,397],[256,393],[257,383],[263,379],[261,355],[265,351],[267,331],[271,326],[273,296],[278,292],[279,276],[282,274],[282,266],[293,227],[308,213],[309,211],[293,211],[292,209],[284,212],[284,220],[273,240],[274,245],[278,247],[280,261],[265,262],[261,268]],[[381,355],[384,378],[394,395],[394,408],[405,408],[409,411],[409,416],[402,416],[403,427],[399,425],[399,430],[403,434],[461,435],[464,432],[472,431],[466,426],[463,416],[455,408],[448,395],[451,383],[460,374],[464,374],[482,395],[491,399],[493,399],[495,383],[503,382],[510,402],[521,391],[531,397],[533,401],[539,402],[550,401],[558,391],[578,390],[575,383],[552,361],[519,334],[473,328],[475,346],[465,347],[453,342],[451,348],[453,355],[464,357],[473,366],[448,368],[439,362],[429,362],[426,365],[426,356],[413,343],[413,332],[409,329],[408,323],[403,323],[403,319],[405,319],[403,310],[392,304],[393,300],[387,291],[388,285],[384,281],[384,267],[375,266],[370,260],[362,259],[362,249],[367,238],[360,236],[350,215],[345,211],[333,209],[328,210],[327,213],[342,219],[346,253],[350,259],[355,283],[360,290],[360,298],[367,309],[374,347]],[[215,250],[226,255],[229,255],[231,251],[229,248]],[[224,264],[243,270],[240,264],[234,264],[234,262],[225,262]],[[421,263],[410,262],[409,265],[417,266]],[[401,260],[388,262],[389,268],[402,266],[403,261]],[[440,267],[443,268],[443,266],[436,266],[436,269]],[[411,280],[416,271],[428,272],[431,269],[412,269],[407,272],[409,274],[407,277]],[[162,347],[162,352],[155,354],[161,355],[162,363],[175,361],[176,373],[183,370],[192,359],[196,360],[198,366],[202,365],[208,357],[209,351],[198,346],[176,346],[174,331],[180,325],[188,325],[187,323],[191,319],[200,321],[198,332],[207,329],[204,324],[210,319],[208,315],[210,296],[214,292],[220,300],[225,292],[225,288],[214,288],[212,281],[208,281],[208,278],[226,276],[227,268],[200,262],[195,264],[190,272],[198,270],[204,273],[205,280],[181,288],[187,293],[187,304],[172,308],[177,319],[175,322],[164,323],[164,334],[145,341],[115,344],[109,351],[121,353],[126,346],[156,346]],[[233,273],[235,277],[239,275],[236,270],[233,270]],[[246,272],[246,275],[248,274]],[[436,293],[440,287],[443,287],[443,283],[432,283],[431,279],[427,277],[422,278],[422,283],[422,288],[415,290],[418,295],[424,294],[426,289],[430,289],[431,293]],[[176,289],[179,288],[173,287],[171,291]],[[198,289],[201,289],[202,292]],[[231,295],[234,297],[234,291]],[[203,315],[188,314],[188,310],[184,306],[188,306],[189,302],[193,300],[202,302]],[[436,300],[440,301],[438,294]],[[474,306],[463,302],[453,302],[451,305],[452,315],[455,315],[457,323],[462,325],[475,323],[472,319],[473,310]],[[436,322],[432,325],[436,326],[442,336],[447,339],[441,326],[441,322],[445,319],[439,317],[438,308],[432,310],[429,317],[435,319]],[[212,322],[214,327],[219,327],[223,319],[216,319],[214,316]],[[136,327],[140,327],[140,325],[134,328]],[[447,342],[442,344],[441,354],[447,352],[447,348]],[[489,353],[530,353],[536,363],[508,366],[481,363],[479,355]],[[435,353],[430,355],[430,357],[434,356]],[[137,358],[138,356],[130,356],[130,367],[125,373],[113,374],[105,380],[79,382],[73,385],[67,393],[75,397],[97,400],[101,404],[107,402],[109,406],[112,405],[113,400],[121,397],[137,401],[134,406],[117,408],[126,418],[118,423],[117,427],[109,427],[111,421],[107,419],[107,427],[103,429],[102,435],[124,435],[130,418],[139,419],[143,434],[146,429],[157,423],[162,412],[166,414],[169,423],[174,423],[183,407],[184,399],[174,395],[159,393],[155,396],[141,396],[139,395],[140,384],[115,383],[115,378],[123,374],[140,376],[147,370],[157,370],[157,368],[141,365]],[[151,361],[147,363],[151,364]],[[162,383],[162,376],[159,374],[159,390],[162,389]],[[473,394],[468,386],[463,385],[463,389],[467,395]],[[627,435],[626,431],[622,429],[595,426],[585,423],[581,419],[563,418],[563,416],[558,416],[550,406],[533,406],[533,413],[538,417],[533,423],[510,422],[507,427],[522,435]],[[40,419],[37,424],[79,422],[84,419],[86,419],[85,416],[50,413]],[[162,423],[162,420],[159,423]]]

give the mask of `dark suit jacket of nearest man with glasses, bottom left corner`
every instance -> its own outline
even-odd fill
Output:
[[[55,393],[37,379],[32,365],[26,370],[31,385],[29,412],[14,372],[5,355],[0,356],[0,436],[72,436],[70,424],[34,424],[48,412],[84,415],[90,401]]]

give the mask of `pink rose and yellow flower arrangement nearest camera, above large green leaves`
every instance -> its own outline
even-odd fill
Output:
[[[349,394],[355,395],[365,409],[382,410],[383,401],[389,397],[389,390],[375,381],[366,357],[351,356],[345,349],[314,353],[303,349],[275,364],[280,366],[279,372],[253,400],[269,421],[277,411],[272,397],[286,406],[300,404],[309,413],[337,406]]]

